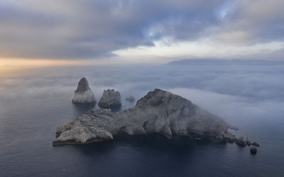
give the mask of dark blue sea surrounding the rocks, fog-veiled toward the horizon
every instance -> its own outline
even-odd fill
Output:
[[[190,99],[261,144],[160,135],[53,147],[55,129],[97,105],[74,105],[82,76],[99,101],[104,89],[125,101],[155,88]],[[117,65],[15,69],[0,76],[0,176],[284,176],[283,65]],[[117,111],[117,110],[115,110]]]

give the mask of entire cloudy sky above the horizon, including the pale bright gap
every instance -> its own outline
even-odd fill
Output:
[[[283,0],[1,0],[0,66],[283,59]]]

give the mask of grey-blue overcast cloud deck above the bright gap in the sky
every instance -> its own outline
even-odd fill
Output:
[[[283,42],[283,8],[282,0],[4,0],[0,57],[98,59],[165,38],[241,46]]]

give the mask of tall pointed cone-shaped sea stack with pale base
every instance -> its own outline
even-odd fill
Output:
[[[86,78],[82,78],[77,86],[77,89],[72,98],[73,103],[95,103],[94,93],[89,88],[89,83]]]

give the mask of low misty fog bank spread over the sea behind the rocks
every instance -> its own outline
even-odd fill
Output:
[[[26,70],[0,77],[1,103],[35,102],[52,107],[54,101],[71,103],[77,82],[85,76],[97,100],[104,89],[138,98],[155,88],[172,91],[229,122],[283,118],[283,67],[277,65],[189,65],[62,67]],[[23,104],[24,106],[25,104]],[[0,106],[1,107],[1,106]],[[4,107],[3,107],[4,108]],[[1,110],[0,112],[5,111]],[[272,122],[271,122],[272,123]]]

